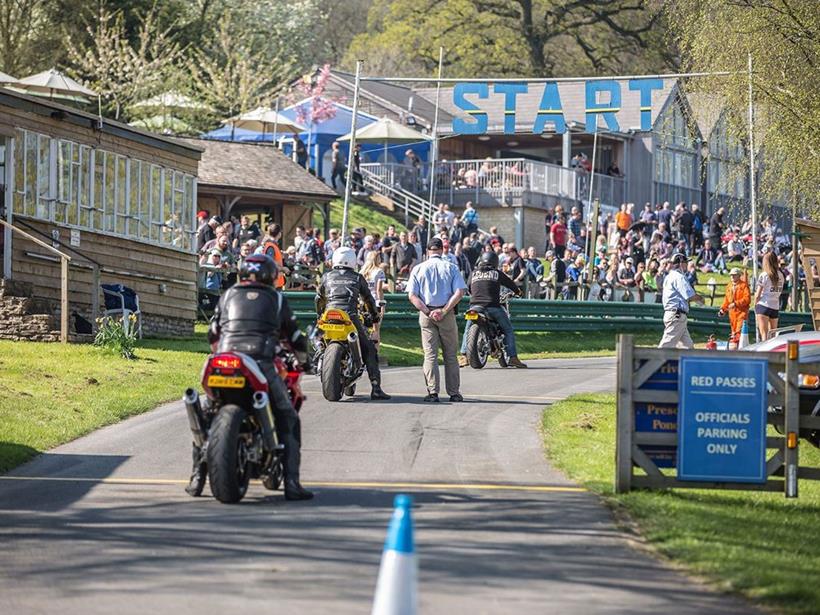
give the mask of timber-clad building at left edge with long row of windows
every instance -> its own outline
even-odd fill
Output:
[[[69,311],[85,318],[102,304],[97,283],[120,283],[139,295],[145,334],[192,333],[201,153],[0,89],[0,217],[71,257]],[[56,307],[60,259],[9,227],[0,235],[5,288]]]

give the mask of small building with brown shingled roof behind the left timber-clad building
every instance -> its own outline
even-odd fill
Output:
[[[297,225],[311,224],[311,212],[328,220],[328,203],[338,195],[270,145],[184,139],[202,151],[197,207],[224,220],[258,214],[282,226],[290,240]],[[325,229],[327,231],[327,229]],[[326,236],[326,233],[325,233]]]

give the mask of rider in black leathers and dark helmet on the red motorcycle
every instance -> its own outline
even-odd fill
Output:
[[[269,256],[253,254],[239,269],[239,284],[219,299],[208,341],[215,352],[242,352],[255,359],[268,381],[276,435],[285,445],[285,497],[309,500],[313,494],[299,483],[302,439],[299,415],[273,366],[282,339],[290,341],[299,359],[307,361],[307,339],[299,330],[285,296],[274,290],[278,268]],[[192,479],[193,480],[193,479]]]

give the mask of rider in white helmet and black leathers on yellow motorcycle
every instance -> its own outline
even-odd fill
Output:
[[[376,301],[364,277],[356,272],[356,255],[351,248],[336,248],[332,262],[333,269],[322,276],[322,281],[316,291],[316,313],[321,316],[326,308],[332,307],[344,310],[350,315],[350,320],[353,321],[361,341],[362,358],[370,378],[372,387],[370,398],[390,399],[390,396],[381,388],[382,377],[376,347],[359,318],[359,299],[361,298],[373,322],[378,322],[380,314]]]

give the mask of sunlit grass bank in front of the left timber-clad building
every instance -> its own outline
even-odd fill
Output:
[[[202,330],[141,341],[133,361],[85,344],[0,341],[0,472],[180,397],[207,350]]]

